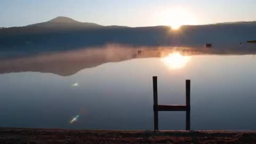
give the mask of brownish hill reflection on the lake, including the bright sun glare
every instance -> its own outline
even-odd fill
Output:
[[[76,74],[79,70],[92,68],[107,62],[119,62],[137,58],[163,57],[169,68],[182,68],[189,61],[189,55],[199,54],[254,54],[255,45],[219,46],[205,48],[203,46],[129,46],[107,44],[98,47],[85,47],[74,51],[60,51],[27,55],[23,57],[2,58],[0,73],[19,73],[34,71],[53,73],[60,76]]]

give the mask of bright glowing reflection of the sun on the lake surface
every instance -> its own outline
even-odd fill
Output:
[[[189,62],[190,57],[183,56],[179,52],[169,53],[167,56],[162,58],[163,63],[167,68],[179,69],[186,66]]]

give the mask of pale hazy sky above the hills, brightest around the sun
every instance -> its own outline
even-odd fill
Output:
[[[256,0],[0,0],[0,27],[66,16],[100,25],[202,25],[256,20]]]

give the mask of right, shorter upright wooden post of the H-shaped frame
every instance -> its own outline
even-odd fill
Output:
[[[190,130],[190,80],[186,80],[186,130]]]

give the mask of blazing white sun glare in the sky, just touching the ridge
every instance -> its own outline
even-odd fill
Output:
[[[172,29],[179,29],[183,25],[196,25],[196,18],[187,9],[175,8],[162,11],[159,14],[162,25],[171,26]]]

